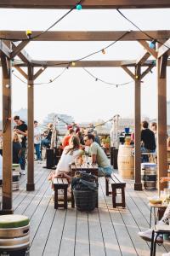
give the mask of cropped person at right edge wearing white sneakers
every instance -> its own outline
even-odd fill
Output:
[[[163,182],[169,182],[170,177],[161,177],[161,183]],[[158,224],[160,225],[169,225],[170,224],[170,203],[167,206],[166,211],[163,214],[163,217],[161,220],[159,220]],[[152,236],[152,230],[145,230],[144,232],[139,232],[139,236],[144,239],[144,241],[151,241],[151,236]],[[163,237],[162,236],[157,236],[156,242],[162,243],[163,242]],[[163,253],[162,256],[170,256],[169,253]]]

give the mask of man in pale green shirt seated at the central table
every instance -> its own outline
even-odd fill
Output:
[[[99,147],[98,143],[94,142],[94,135],[88,133],[84,137],[85,146],[89,147],[89,152],[92,156],[92,163],[97,163],[99,166],[99,177],[111,176],[113,172],[112,166],[102,148]]]

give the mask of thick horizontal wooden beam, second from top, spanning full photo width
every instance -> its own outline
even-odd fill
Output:
[[[42,31],[32,31],[32,37],[41,34]],[[48,31],[41,37],[33,39],[34,41],[115,41],[125,31]],[[150,37],[148,37],[148,34]],[[13,40],[26,40],[26,31],[0,31],[0,38]],[[131,31],[127,33],[120,41],[147,41],[150,38],[157,40],[170,38],[170,30],[158,31]]]

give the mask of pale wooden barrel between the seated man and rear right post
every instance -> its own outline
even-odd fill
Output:
[[[120,145],[118,151],[118,172],[123,178],[134,178],[133,146]]]

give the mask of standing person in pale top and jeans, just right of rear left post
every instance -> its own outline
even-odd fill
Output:
[[[38,163],[41,163],[41,160],[42,160],[41,153],[40,153],[41,134],[42,134],[42,131],[38,127],[38,122],[34,121],[34,148],[36,149]]]

